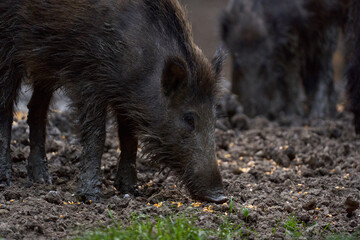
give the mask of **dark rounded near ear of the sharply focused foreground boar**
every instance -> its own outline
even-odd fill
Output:
[[[180,57],[168,57],[164,64],[161,85],[165,96],[169,97],[177,89],[188,83],[189,71]]]

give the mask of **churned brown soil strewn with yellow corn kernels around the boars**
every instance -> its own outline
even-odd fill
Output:
[[[78,202],[81,147],[72,120],[59,112],[50,113],[46,142],[53,184],[32,185],[26,172],[29,130],[25,117],[18,116],[11,143],[13,185],[0,190],[0,236],[72,238],[113,224],[109,209],[124,224],[132,213],[152,218],[188,212],[199,227],[210,229],[228,219],[241,225],[249,239],[286,238],[283,223],[291,215],[303,222],[309,238],[320,239],[319,229],[359,228],[360,138],[351,115],[296,124],[261,117],[240,120],[246,130],[225,127],[226,119],[216,130],[218,164],[233,201],[229,213],[229,203],[194,202],[175,176],[166,169],[160,173],[145,159],[138,159],[138,196],[119,194],[112,186],[120,153],[114,127],[108,128],[102,159],[104,201]]]

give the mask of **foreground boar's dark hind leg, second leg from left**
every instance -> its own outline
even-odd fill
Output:
[[[32,182],[51,184],[45,153],[46,122],[52,90],[45,90],[35,85],[28,104],[30,127],[30,155],[28,158],[28,178]]]

